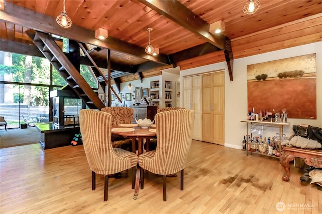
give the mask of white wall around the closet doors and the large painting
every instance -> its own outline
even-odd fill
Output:
[[[180,82],[182,77],[203,72],[209,72],[218,69],[225,69],[225,146],[241,149],[241,140],[246,135],[246,124],[240,120],[246,119],[247,109],[247,65],[278,60],[283,58],[301,56],[305,54],[316,53],[316,105],[317,119],[288,119],[289,126],[284,127],[284,133],[287,136],[293,134],[292,126],[303,124],[322,127],[322,42],[308,45],[287,48],[264,54],[258,54],[250,57],[234,60],[233,81],[230,82],[226,62],[211,64],[193,69],[180,71]],[[181,91],[182,84],[181,84]],[[182,106],[182,96],[180,97],[180,106]],[[287,109],[287,107],[286,107]],[[278,129],[267,128],[263,136],[273,137]]]

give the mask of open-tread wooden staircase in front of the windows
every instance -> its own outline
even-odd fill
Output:
[[[81,98],[90,109],[101,109],[105,107],[97,93],[93,91],[81,73],[70,62],[49,34],[34,30],[30,30],[26,33],[42,54],[57,69],[59,74],[67,81],[68,85],[75,91],[78,97]]]

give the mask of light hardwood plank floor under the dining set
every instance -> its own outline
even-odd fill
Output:
[[[246,156],[237,149],[193,141],[185,168],[184,190],[178,177],[145,175],[133,200],[130,172],[109,180],[103,201],[103,176],[91,188],[83,146],[43,150],[39,144],[0,149],[0,213],[322,213],[322,191],[301,185],[301,169],[291,166],[282,181],[279,161]],[[283,202],[279,212],[276,204]],[[297,208],[300,207],[300,208]]]

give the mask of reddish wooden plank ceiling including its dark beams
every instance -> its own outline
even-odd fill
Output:
[[[73,26],[63,29],[55,22],[63,0],[5,0],[0,50],[37,56],[40,53],[25,31],[57,34],[102,47],[90,53],[102,67],[107,65],[107,48],[111,49],[112,69],[133,73],[121,77],[124,82],[138,79],[137,72],[149,77],[173,66],[184,70],[223,62],[227,41],[234,59],[322,41],[322,0],[260,0],[253,15],[241,11],[246,2],[66,0]],[[225,23],[223,35],[209,35],[209,24],[219,20]],[[99,27],[108,30],[104,41],[95,39]],[[144,51],[147,27],[153,28],[152,46],[160,49],[157,57]]]

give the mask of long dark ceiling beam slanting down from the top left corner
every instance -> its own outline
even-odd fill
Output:
[[[28,19],[26,19],[26,17],[28,17]],[[89,43],[103,48],[120,51],[160,64],[169,64],[168,58],[164,54],[152,56],[146,54],[145,49],[140,46],[127,43],[113,37],[108,37],[104,41],[101,41],[95,38],[95,31],[76,25],[73,25],[68,30],[63,29],[59,27],[54,17],[46,16],[9,2],[5,2],[5,11],[0,11],[0,20],[37,31],[59,35],[78,42]]]

